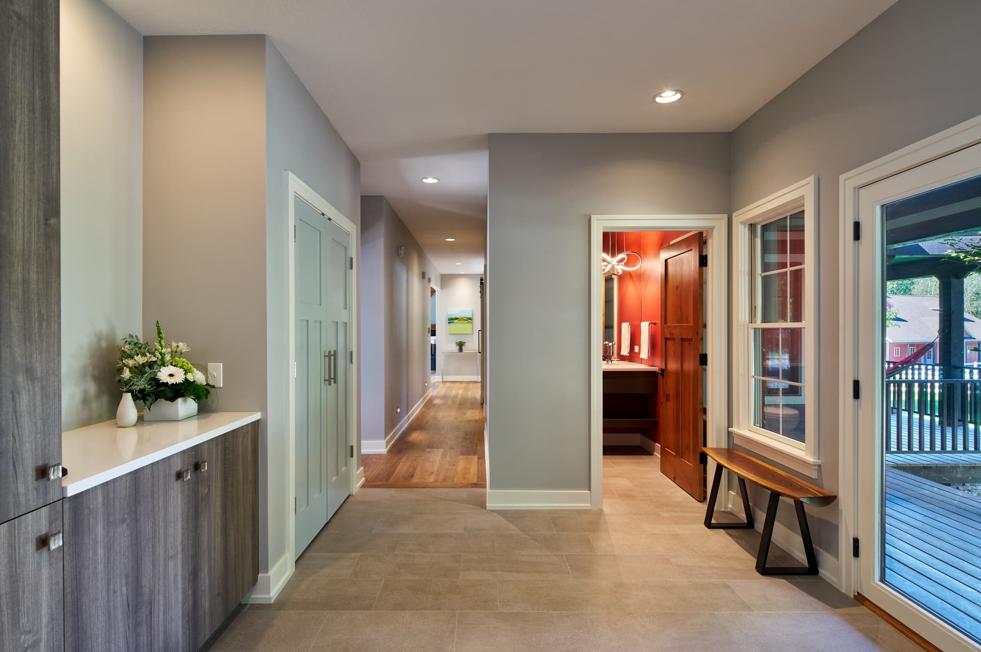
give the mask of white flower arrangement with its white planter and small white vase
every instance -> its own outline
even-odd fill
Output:
[[[117,346],[116,382],[123,390],[117,412],[120,426],[136,423],[134,401],[143,402],[143,421],[181,421],[197,414],[197,404],[206,400],[215,385],[189,363],[183,354],[190,347],[183,342],[164,341],[157,322],[157,340],[144,342],[127,335]]]

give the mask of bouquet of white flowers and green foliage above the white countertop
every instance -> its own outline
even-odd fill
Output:
[[[132,394],[134,400],[143,401],[147,409],[160,399],[176,401],[187,397],[200,403],[215,386],[183,357],[189,346],[164,341],[160,322],[157,322],[156,342],[144,342],[129,334],[116,348],[120,354],[116,383],[124,392]]]

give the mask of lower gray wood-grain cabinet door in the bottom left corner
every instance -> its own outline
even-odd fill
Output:
[[[0,526],[0,651],[63,650],[64,547],[48,537],[62,529],[56,502]]]

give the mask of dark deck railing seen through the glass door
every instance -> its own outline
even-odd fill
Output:
[[[886,379],[887,453],[981,451],[981,369],[941,369],[912,365]]]

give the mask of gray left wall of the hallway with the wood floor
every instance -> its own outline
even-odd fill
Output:
[[[437,285],[439,273],[385,197],[363,197],[361,207],[368,231],[362,265],[377,268],[362,279],[362,364],[372,367],[361,381],[362,401],[366,401],[362,439],[379,442],[432,389],[430,281],[422,273]],[[398,247],[404,248],[401,258]],[[373,347],[376,350],[371,351]],[[378,387],[383,385],[384,396],[380,396]]]

